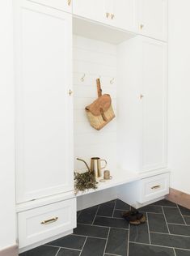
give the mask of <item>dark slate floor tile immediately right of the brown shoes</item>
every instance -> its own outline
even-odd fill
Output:
[[[150,231],[168,233],[167,223],[163,214],[148,213],[148,220]]]

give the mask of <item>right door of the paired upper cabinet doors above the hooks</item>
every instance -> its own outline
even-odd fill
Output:
[[[117,28],[137,32],[137,1],[114,0],[111,19]]]

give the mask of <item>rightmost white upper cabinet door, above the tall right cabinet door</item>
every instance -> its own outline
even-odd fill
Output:
[[[167,41],[167,0],[138,0],[141,35]]]

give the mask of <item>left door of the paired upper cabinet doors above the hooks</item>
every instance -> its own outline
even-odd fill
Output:
[[[104,0],[73,0],[73,13],[87,19],[103,22]]]

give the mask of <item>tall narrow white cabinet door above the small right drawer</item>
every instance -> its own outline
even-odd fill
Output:
[[[141,38],[142,171],[166,167],[167,45]]]

